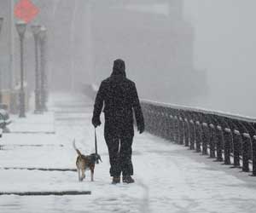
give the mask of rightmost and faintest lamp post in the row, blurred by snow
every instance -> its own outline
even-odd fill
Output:
[[[41,30],[39,32],[39,38],[40,38],[40,78],[41,78],[41,102],[40,106],[43,111],[47,111],[46,107],[46,72],[45,72],[45,45],[46,45],[46,28],[44,26],[41,27]]]

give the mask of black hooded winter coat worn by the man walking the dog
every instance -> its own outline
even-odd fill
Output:
[[[111,76],[102,81],[96,95],[92,123],[100,123],[104,104],[105,135],[134,135],[133,111],[138,130],[144,130],[143,112],[134,82],[126,78],[125,62],[115,60]]]

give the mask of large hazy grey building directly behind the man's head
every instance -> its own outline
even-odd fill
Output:
[[[108,9],[97,4],[92,13],[96,82],[121,57],[143,98],[185,104],[206,94],[206,75],[194,67],[194,29],[183,18],[183,0],[109,2]]]

